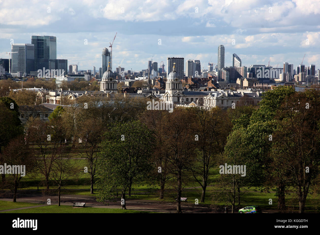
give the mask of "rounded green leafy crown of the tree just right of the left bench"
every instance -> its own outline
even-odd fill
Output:
[[[116,123],[105,138],[97,164],[98,201],[112,199],[118,188],[125,192],[130,181],[145,180],[151,168],[149,159],[154,141],[152,132],[140,121]]]

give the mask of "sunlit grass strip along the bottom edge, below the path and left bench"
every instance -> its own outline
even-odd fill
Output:
[[[85,207],[78,208],[73,206],[58,206],[51,205],[45,207],[37,207],[37,208],[29,208],[29,209],[21,209],[19,211],[7,211],[3,213],[156,213],[156,212],[146,212],[146,211],[137,211],[137,210],[121,210],[110,209],[110,208],[93,208],[93,207]]]

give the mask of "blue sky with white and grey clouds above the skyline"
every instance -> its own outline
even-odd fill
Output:
[[[113,70],[147,69],[148,60],[199,59],[207,69],[225,47],[225,66],[236,53],[243,66],[320,68],[319,0],[0,0],[0,58],[10,43],[32,35],[57,37],[57,59],[78,70],[99,71],[101,52],[113,44]],[[108,48],[109,49],[109,48]]]

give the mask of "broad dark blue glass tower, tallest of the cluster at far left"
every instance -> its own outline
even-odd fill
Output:
[[[31,36],[34,45],[34,70],[55,69],[57,38],[53,36]]]

